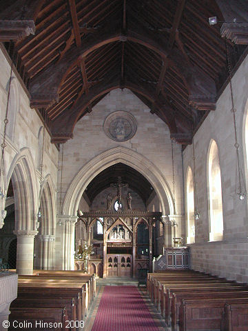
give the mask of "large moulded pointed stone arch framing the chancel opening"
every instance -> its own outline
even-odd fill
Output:
[[[63,201],[63,213],[76,215],[80,199],[87,185],[104,169],[116,163],[124,163],[141,172],[143,176],[153,185],[154,190],[161,202],[163,214],[174,214],[174,202],[169,185],[161,171],[143,155],[128,148],[118,146],[103,152],[88,163],[76,174],[68,188]],[[169,210],[166,205],[169,204]]]

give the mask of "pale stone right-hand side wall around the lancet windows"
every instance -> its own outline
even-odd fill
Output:
[[[240,161],[245,175],[245,119],[247,116],[248,57],[232,79]],[[237,281],[248,281],[247,199],[232,197],[236,189],[236,149],[234,123],[231,113],[231,94],[228,85],[194,137],[196,155],[196,190],[200,220],[196,221],[196,243],[190,245],[192,268],[211,272]],[[223,241],[209,242],[209,198],[207,192],[207,159],[209,143],[218,146],[223,197]],[[183,152],[185,181],[187,169],[194,168],[192,146]]]

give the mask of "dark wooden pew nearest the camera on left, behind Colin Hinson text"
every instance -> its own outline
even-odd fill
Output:
[[[39,330],[39,326],[43,326],[40,330],[68,330],[67,322],[68,316],[65,308],[12,308],[9,317],[10,327],[9,331],[24,330],[32,331]],[[56,326],[56,328],[45,328],[46,323]]]

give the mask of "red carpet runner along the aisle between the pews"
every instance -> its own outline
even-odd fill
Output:
[[[105,286],[92,331],[158,331],[135,286]]]

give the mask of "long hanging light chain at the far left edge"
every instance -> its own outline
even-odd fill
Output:
[[[4,151],[6,148],[6,128],[8,125],[8,108],[10,104],[10,88],[12,82],[12,71],[13,71],[13,61],[11,63],[10,69],[10,82],[8,85],[8,97],[6,103],[6,116],[3,120],[3,142],[1,143],[1,162],[0,162],[0,203],[1,203],[1,214],[0,214],[0,228],[3,227],[3,220],[6,218],[7,211],[5,210],[5,203],[7,197],[7,183],[6,183],[6,170],[5,170],[5,159],[4,159]]]

